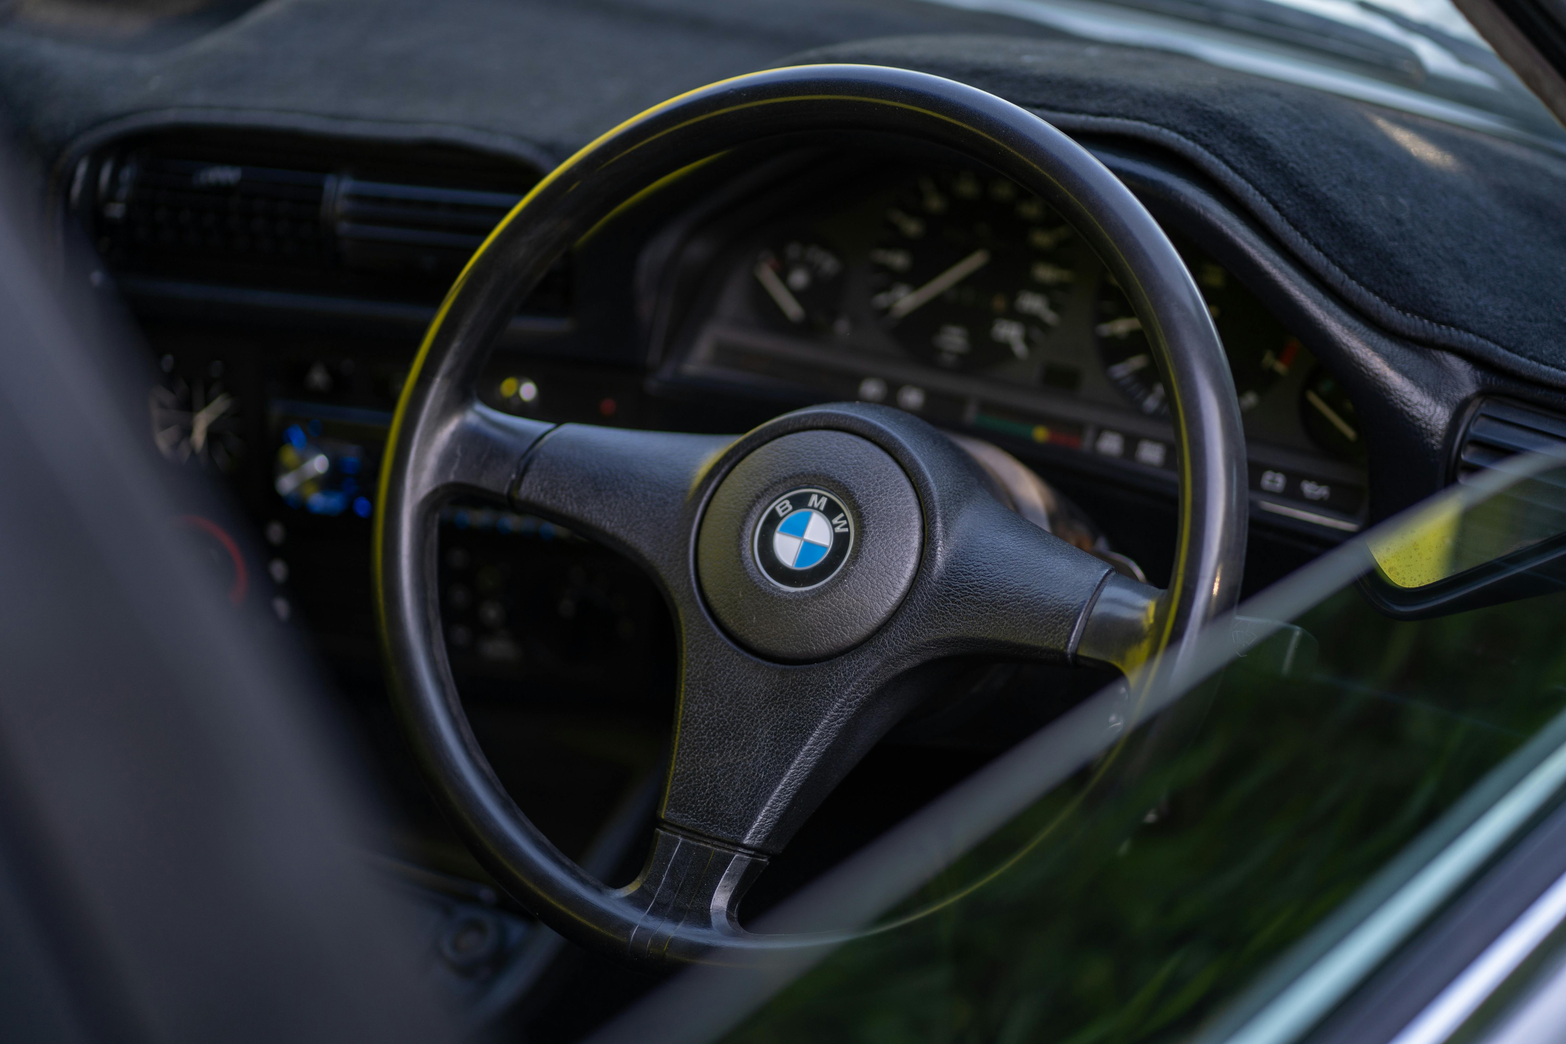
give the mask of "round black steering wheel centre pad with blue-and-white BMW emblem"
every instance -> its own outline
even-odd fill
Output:
[[[897,462],[847,432],[774,438],[719,484],[697,534],[697,578],[736,642],[819,661],[874,634],[919,568],[924,515]]]

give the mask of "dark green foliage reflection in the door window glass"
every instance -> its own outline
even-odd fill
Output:
[[[1331,596],[1298,620],[1320,643],[1309,676],[1231,665],[904,911],[1004,872],[841,949],[733,1039],[1198,1028],[1561,712],[1563,610],[1550,595],[1395,621]]]

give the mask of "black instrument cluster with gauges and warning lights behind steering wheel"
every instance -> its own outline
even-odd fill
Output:
[[[1353,532],[1353,405],[1229,271],[1174,243],[1229,358],[1256,506]],[[713,258],[664,379],[886,402],[1013,451],[1173,476],[1142,322],[1060,214],[1009,178],[940,163],[861,172],[730,229]]]

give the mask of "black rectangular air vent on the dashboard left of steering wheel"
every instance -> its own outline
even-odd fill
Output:
[[[536,178],[476,153],[163,138],[85,160],[72,202],[132,297],[428,308]],[[568,315],[564,265],[521,311]]]

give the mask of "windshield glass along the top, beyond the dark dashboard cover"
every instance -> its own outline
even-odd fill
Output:
[[[31,0],[0,5],[0,25],[150,53],[189,47],[241,17],[263,20],[263,11],[247,13],[266,6],[276,5]],[[615,14],[601,17],[753,39],[763,63],[932,31],[1154,49],[1566,152],[1566,130],[1449,0],[615,0],[608,8]],[[478,19],[482,9],[459,6],[449,17]],[[670,75],[678,80],[680,70]]]

